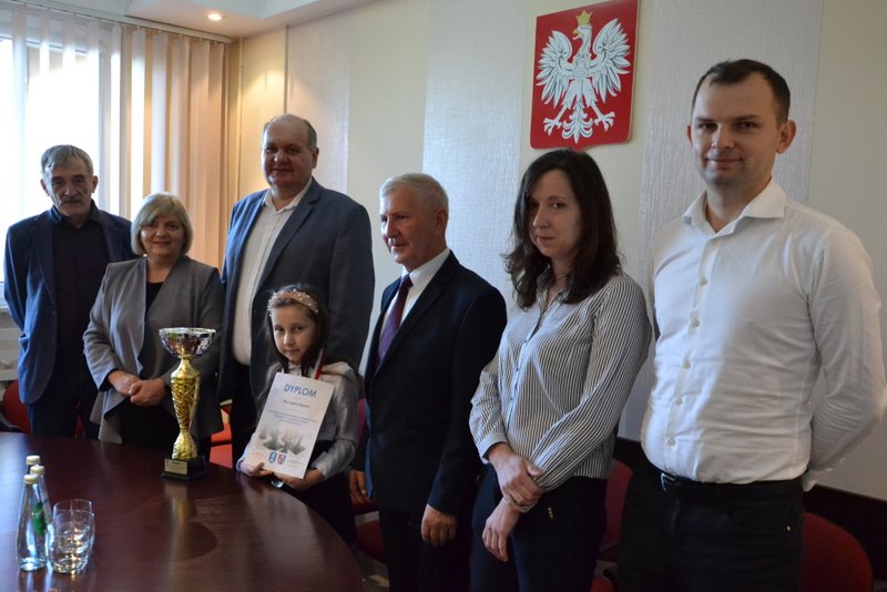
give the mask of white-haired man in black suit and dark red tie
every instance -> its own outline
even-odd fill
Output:
[[[447,247],[447,194],[437,181],[400,175],[379,195],[383,239],[404,273],[385,289],[373,334],[368,441],[355,461],[361,470],[350,474],[351,498],[379,508],[394,592],[468,590],[480,468],[468,416],[506,306]]]

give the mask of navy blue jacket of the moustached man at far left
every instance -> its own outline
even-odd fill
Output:
[[[9,316],[22,331],[19,338],[19,394],[35,402],[43,395],[55,365],[55,272],[52,226],[60,221],[54,207],[17,222],[7,233],[3,293]],[[135,257],[130,247],[130,221],[99,211],[108,261]]]

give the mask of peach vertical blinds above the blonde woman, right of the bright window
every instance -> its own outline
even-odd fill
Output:
[[[194,224],[192,257],[220,266],[227,45],[144,29],[130,39],[130,211],[150,193],[179,195]]]

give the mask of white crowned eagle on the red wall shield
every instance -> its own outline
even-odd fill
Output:
[[[595,125],[606,131],[613,124],[615,113],[604,113],[601,105],[622,90],[621,76],[631,65],[626,59],[631,47],[619,19],[604,24],[597,37],[590,12],[583,10],[575,20],[573,39],[580,40],[579,49],[573,51],[561,31],[551,31],[536,80],[542,86],[542,101],[559,106],[555,116],[544,119],[544,132],[551,135],[560,130],[564,140],[579,143],[591,137]]]

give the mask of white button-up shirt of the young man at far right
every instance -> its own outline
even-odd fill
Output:
[[[703,195],[660,234],[651,304],[655,382],[641,439],[660,469],[731,483],[807,471],[809,488],[884,414],[868,255],[773,181],[720,232]]]

